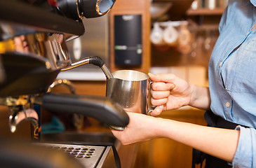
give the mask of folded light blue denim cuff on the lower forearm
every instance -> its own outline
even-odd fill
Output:
[[[234,156],[233,167],[254,167],[256,165],[256,130],[255,128],[245,128],[238,126],[240,130],[238,147]]]

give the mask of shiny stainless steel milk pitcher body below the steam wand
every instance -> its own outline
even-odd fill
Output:
[[[147,114],[149,76],[132,70],[112,73],[107,79],[107,97],[119,103],[125,111]]]

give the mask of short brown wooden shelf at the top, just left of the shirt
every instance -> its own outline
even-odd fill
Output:
[[[189,9],[187,10],[187,15],[222,15],[225,8],[215,8],[215,9],[209,9],[209,8],[200,8],[200,9]]]

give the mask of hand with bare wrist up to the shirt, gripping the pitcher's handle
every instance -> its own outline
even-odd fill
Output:
[[[210,109],[209,87],[191,85],[186,80],[168,74],[151,74],[151,104],[156,109],[151,116],[158,116],[163,110],[178,109],[182,106],[194,106],[198,109]]]

